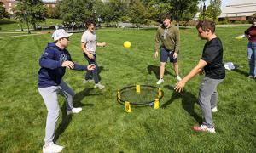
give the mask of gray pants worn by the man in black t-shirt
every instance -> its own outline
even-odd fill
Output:
[[[201,106],[203,125],[214,127],[212,121],[212,108],[217,106],[218,93],[217,86],[224,79],[212,79],[204,77],[199,88],[199,105]]]

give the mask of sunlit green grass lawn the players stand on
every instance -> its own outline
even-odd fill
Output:
[[[60,118],[56,143],[63,152],[254,152],[256,150],[256,82],[248,79],[247,40],[236,40],[245,27],[218,28],[224,45],[224,62],[243,68],[227,71],[218,86],[218,112],[213,114],[216,134],[195,133],[191,127],[201,122],[196,104],[202,76],[187,83],[185,92],[176,94],[172,65],[166,65],[166,109],[131,107],[131,113],[116,101],[119,89],[136,84],[155,85],[159,59],[153,59],[155,30],[101,29],[97,48],[102,91],[89,82],[83,84],[83,71],[68,71],[64,80],[77,93],[78,115],[67,117],[63,97],[59,97]],[[86,64],[80,49],[82,33],[71,37],[68,50],[73,60]],[[122,47],[131,42],[131,48]],[[201,58],[205,41],[196,30],[181,29],[180,74],[184,77]],[[38,94],[38,59],[50,35],[0,38],[0,150],[1,152],[40,152],[44,144],[47,111]]]

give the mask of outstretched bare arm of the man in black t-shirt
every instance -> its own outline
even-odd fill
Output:
[[[191,78],[199,74],[206,65],[207,62],[205,60],[200,59],[198,64],[189,72],[189,74],[186,77],[184,77],[180,82],[176,83],[176,87],[174,88],[174,90],[177,92],[183,91],[186,82],[189,82]]]

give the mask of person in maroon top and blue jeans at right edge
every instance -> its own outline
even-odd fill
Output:
[[[253,17],[253,25],[245,32],[249,43],[247,45],[247,57],[249,59],[249,78],[256,78],[256,17]]]

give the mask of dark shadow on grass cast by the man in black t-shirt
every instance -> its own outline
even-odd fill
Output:
[[[175,99],[182,99],[183,109],[187,111],[189,115],[195,119],[195,121],[200,123],[202,122],[201,116],[198,116],[194,111],[195,104],[197,104],[197,98],[195,97],[194,94],[191,94],[186,91],[183,91],[183,93],[177,93],[170,85],[166,85],[165,88],[173,90],[173,92],[171,99],[169,99],[165,104],[161,105],[162,109],[165,109],[167,108],[168,105],[171,105]]]

